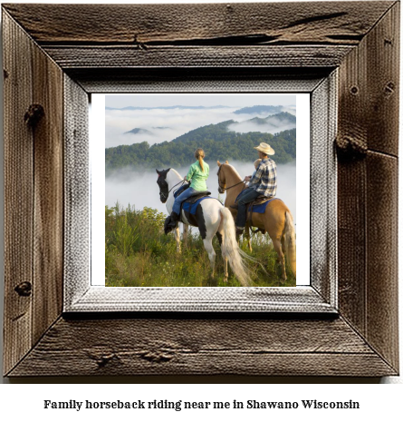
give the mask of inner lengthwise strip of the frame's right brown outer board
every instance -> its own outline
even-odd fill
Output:
[[[367,145],[367,42],[364,40],[340,68],[338,139]],[[366,166],[362,160],[339,157],[338,252],[341,314],[366,333]]]

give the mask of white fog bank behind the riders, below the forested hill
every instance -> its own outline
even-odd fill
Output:
[[[211,196],[218,198],[218,181],[216,172],[218,167],[216,161],[208,160],[210,165],[210,175],[207,180],[208,190]],[[242,177],[254,172],[253,162],[230,162]],[[190,165],[190,163],[189,163]],[[162,169],[158,169],[162,170]],[[175,169],[182,177],[187,174],[187,168]],[[157,184],[157,172],[135,172],[123,170],[115,173],[105,180],[105,204],[114,206],[117,201],[123,207],[130,205],[136,210],[144,207],[154,208],[158,211],[168,213],[165,204],[159,201],[159,188]],[[225,199],[225,194],[221,195]],[[296,165],[295,162],[277,165],[277,198],[280,198],[288,206],[293,214],[294,224],[296,224]]]

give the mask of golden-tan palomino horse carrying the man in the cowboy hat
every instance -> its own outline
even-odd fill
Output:
[[[245,189],[243,179],[235,168],[228,162],[218,164],[218,191],[224,193],[225,207],[235,203],[236,197]],[[235,210],[230,209],[233,214]],[[264,214],[252,213],[252,226],[265,230],[273,240],[273,248],[277,252],[278,260],[282,266],[283,280],[287,280],[285,274],[286,255],[293,274],[296,276],[296,253],[295,231],[293,229],[293,216],[283,201],[274,200],[267,204]],[[249,245],[250,246],[250,245]]]

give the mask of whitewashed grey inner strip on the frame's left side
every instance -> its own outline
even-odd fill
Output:
[[[63,85],[65,309],[81,298],[91,284],[91,191],[89,97],[65,74]]]

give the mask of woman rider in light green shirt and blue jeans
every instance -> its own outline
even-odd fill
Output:
[[[195,151],[195,158],[197,159],[197,162],[194,162],[190,166],[189,171],[187,172],[187,176],[185,177],[186,181],[191,181],[190,187],[188,187],[186,191],[183,191],[175,199],[171,215],[169,216],[169,221],[166,224],[165,234],[168,234],[169,231],[172,231],[177,227],[180,213],[180,204],[187,200],[189,196],[195,194],[197,191],[207,190],[206,180],[208,174],[210,173],[210,168],[208,167],[208,164],[203,161],[205,158],[205,152],[201,148],[197,148]]]

